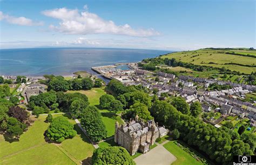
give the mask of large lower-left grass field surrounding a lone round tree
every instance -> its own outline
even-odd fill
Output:
[[[60,115],[53,115],[53,118],[56,116]],[[64,116],[75,125],[70,116]],[[0,164],[78,164],[92,155],[93,146],[77,126],[78,134],[73,139],[61,144],[45,142],[43,134],[49,126],[45,118],[39,116],[19,141],[8,142],[0,135]]]

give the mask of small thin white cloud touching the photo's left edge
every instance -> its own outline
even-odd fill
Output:
[[[6,20],[6,22],[10,24],[22,25],[22,26],[41,26],[43,22],[34,22],[32,19],[25,17],[13,17],[9,15],[5,15],[2,11],[0,11],[0,20]]]

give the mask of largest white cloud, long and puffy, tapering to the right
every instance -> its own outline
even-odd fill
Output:
[[[77,9],[66,8],[45,10],[45,16],[60,19],[59,26],[50,25],[50,29],[75,35],[89,35],[108,33],[112,35],[125,35],[136,37],[149,37],[159,35],[154,29],[131,28],[129,24],[116,25],[112,20],[104,20],[95,13],[88,11],[78,12]]]

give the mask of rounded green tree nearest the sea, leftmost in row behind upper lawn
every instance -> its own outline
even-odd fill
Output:
[[[63,91],[66,92],[69,90],[69,83],[66,80],[60,80],[57,78],[52,78],[52,80],[50,81],[49,85],[48,85],[48,91],[53,90],[53,91]]]

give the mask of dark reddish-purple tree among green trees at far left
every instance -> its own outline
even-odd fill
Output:
[[[8,115],[16,118],[18,121],[24,122],[28,120],[29,115],[23,108],[16,106],[11,107],[8,111]]]

